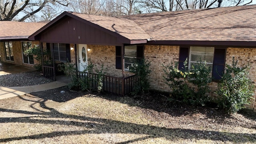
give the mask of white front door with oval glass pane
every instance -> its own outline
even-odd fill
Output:
[[[78,44],[78,70],[82,72],[87,68],[87,45]]]

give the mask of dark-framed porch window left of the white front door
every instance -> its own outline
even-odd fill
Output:
[[[54,60],[60,62],[70,62],[70,46],[69,44],[53,44]]]

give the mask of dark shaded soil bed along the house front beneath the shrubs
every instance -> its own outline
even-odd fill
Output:
[[[66,102],[68,100],[72,100],[74,98],[84,96],[86,94],[89,94],[89,92],[81,92],[81,91],[73,91],[68,90],[68,88],[61,87],[56,88],[53,90],[47,90],[44,92],[33,92],[31,93],[33,96],[38,96],[40,98],[44,98],[46,100],[53,100],[56,102]],[[143,109],[151,109],[156,112],[164,112],[166,114],[169,114],[171,116],[192,116],[194,114],[203,114],[206,116],[206,118],[213,119],[216,123],[222,124],[225,119],[231,118],[234,121],[231,121],[230,124],[240,124],[241,126],[248,127],[248,128],[255,128],[255,125],[248,126],[246,123],[242,122],[239,119],[232,118],[232,115],[226,114],[222,110],[218,110],[216,108],[210,108],[210,107],[202,107],[202,106],[188,106],[181,103],[168,103],[166,101],[167,95],[164,95],[163,93],[154,92],[145,96],[137,96],[135,99],[131,98],[132,100],[124,100],[123,97],[116,96],[110,93],[92,93],[93,96],[97,96],[100,98],[104,98],[107,100],[117,101],[124,104],[128,104],[130,106],[136,106]],[[130,96],[132,97],[132,96]],[[256,121],[256,113],[251,112],[249,110],[241,110],[238,112],[239,114],[242,114],[246,118],[250,120]]]

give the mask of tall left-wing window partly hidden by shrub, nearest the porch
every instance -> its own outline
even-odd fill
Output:
[[[32,48],[32,42],[21,42],[21,44],[22,44],[23,62],[26,64],[34,64],[33,54],[27,54],[27,51]]]

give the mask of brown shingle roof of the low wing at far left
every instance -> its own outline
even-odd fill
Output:
[[[0,40],[28,38],[46,22],[0,21]]]

